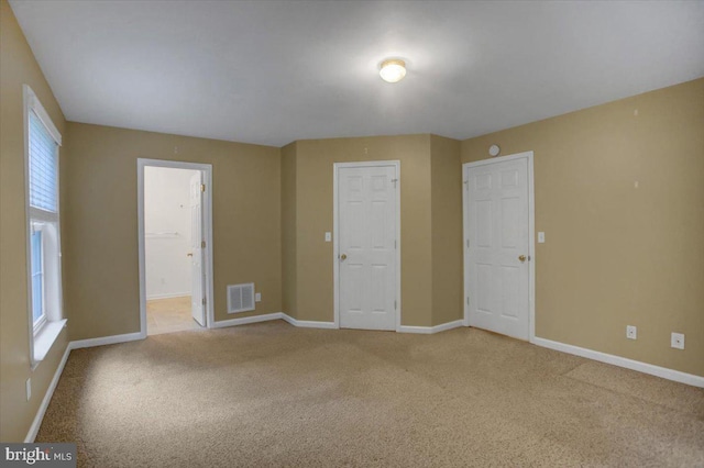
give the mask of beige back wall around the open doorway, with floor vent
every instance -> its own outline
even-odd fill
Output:
[[[216,321],[282,310],[280,158],[266,146],[68,124],[64,300],[72,339],[140,330],[138,158],[212,165]],[[227,313],[253,281],[256,311]]]

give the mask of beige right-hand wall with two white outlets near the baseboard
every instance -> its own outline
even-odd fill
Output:
[[[466,140],[462,160],[493,143],[535,152],[537,336],[704,376],[704,79]]]

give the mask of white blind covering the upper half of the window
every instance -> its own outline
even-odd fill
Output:
[[[58,212],[57,143],[44,123],[30,112],[30,205]]]

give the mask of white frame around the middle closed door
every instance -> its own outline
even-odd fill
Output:
[[[333,282],[334,282],[334,327],[340,327],[340,211],[339,211],[339,200],[338,200],[338,179],[339,179],[339,169],[345,167],[383,167],[383,166],[393,166],[396,169],[396,304],[397,309],[394,311],[396,313],[396,332],[400,331],[400,315],[402,315],[402,303],[400,303],[400,160],[371,160],[371,161],[361,161],[361,163],[334,163],[332,165],[332,234],[333,234],[333,245],[332,245],[332,271],[333,271]]]

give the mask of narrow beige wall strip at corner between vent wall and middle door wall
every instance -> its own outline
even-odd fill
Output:
[[[282,307],[298,319],[296,143],[282,148]]]

